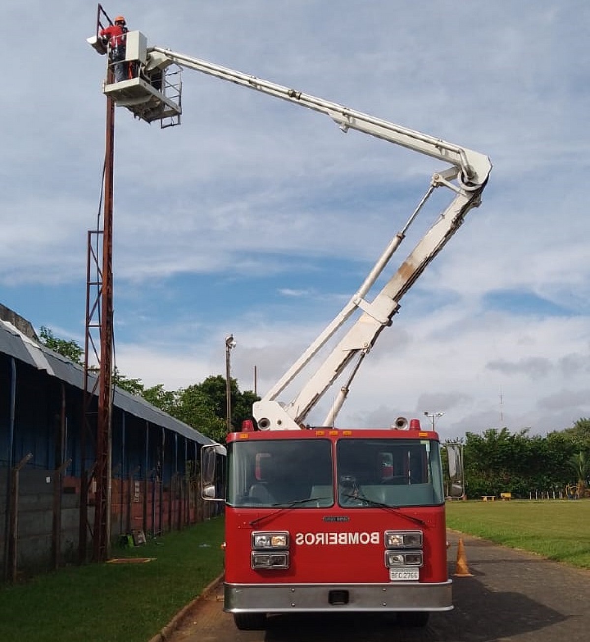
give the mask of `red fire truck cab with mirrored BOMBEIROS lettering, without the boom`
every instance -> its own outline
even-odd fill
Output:
[[[425,625],[453,608],[441,447],[416,427],[228,435],[224,609],[239,629],[285,612]]]

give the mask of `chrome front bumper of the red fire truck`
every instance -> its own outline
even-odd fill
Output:
[[[224,583],[223,610],[232,613],[450,611],[453,608],[452,584],[453,580],[439,584]],[[342,594],[346,596],[345,603],[343,600],[332,603]]]

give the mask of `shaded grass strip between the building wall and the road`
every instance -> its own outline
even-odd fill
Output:
[[[149,562],[71,566],[0,587],[0,640],[146,642],[223,572],[223,518],[112,548]]]

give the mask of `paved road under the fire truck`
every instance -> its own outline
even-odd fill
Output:
[[[273,616],[263,631],[239,631],[222,611],[221,587],[192,609],[171,642],[587,642],[590,571],[460,535],[469,571],[454,578],[455,609],[432,614],[425,629],[394,617],[334,614]],[[450,571],[459,534],[450,533]]]

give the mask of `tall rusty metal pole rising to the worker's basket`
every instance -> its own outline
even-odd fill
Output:
[[[107,82],[112,82],[109,68]],[[103,290],[101,292],[101,359],[96,429],[96,505],[94,508],[94,560],[105,562],[110,553],[110,483],[112,432],[113,354],[113,185],[115,103],[106,97],[105,209],[103,235]]]

